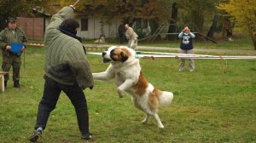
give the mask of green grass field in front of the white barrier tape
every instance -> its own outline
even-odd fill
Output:
[[[87,57],[93,72],[108,67],[100,56]],[[85,89],[90,131],[95,134],[88,142],[256,142],[256,60],[195,60],[195,72],[177,72],[178,63],[177,59],[141,60],[148,81],[174,93],[172,106],[159,112],[165,129],[159,129],[153,118],[140,123],[143,112],[128,94],[119,99],[113,81],[96,81],[94,89]],[[9,81],[7,91],[0,93],[1,143],[28,142],[33,132],[44,87],[43,48],[26,49],[26,67],[20,74],[21,89],[14,89]],[[80,140],[75,112],[65,94],[38,142],[86,142]]]

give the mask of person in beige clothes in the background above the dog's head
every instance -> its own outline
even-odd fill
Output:
[[[137,47],[137,33],[129,26],[129,24],[125,24],[126,32],[125,35],[127,39],[129,40],[128,46],[131,49],[136,49]]]

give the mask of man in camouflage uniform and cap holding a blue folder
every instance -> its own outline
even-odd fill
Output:
[[[24,46],[20,51],[24,51],[26,47],[27,38],[25,32],[20,30],[16,25],[16,20],[14,18],[9,18],[7,20],[8,27],[0,32],[0,47],[2,48],[3,54],[3,72],[9,72],[11,66],[13,67],[13,81],[14,87],[20,88],[20,66],[21,66],[21,53],[22,52],[12,52],[11,43],[20,43]],[[9,73],[4,75],[4,88],[7,87],[7,82],[9,80]]]

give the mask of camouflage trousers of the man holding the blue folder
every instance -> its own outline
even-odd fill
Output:
[[[10,68],[13,67],[13,81],[20,80],[20,66],[21,58],[20,55],[3,55],[2,70],[3,72],[9,72]],[[4,75],[4,81],[9,80],[9,73]]]

